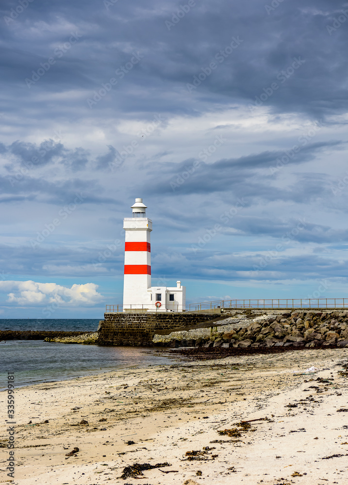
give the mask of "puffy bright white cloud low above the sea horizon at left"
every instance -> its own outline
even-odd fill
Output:
[[[90,307],[104,299],[97,289],[98,285],[94,283],[72,285],[71,288],[68,288],[56,283],[0,281],[0,291],[9,292],[7,302],[17,303],[21,306],[56,303],[60,307]]]

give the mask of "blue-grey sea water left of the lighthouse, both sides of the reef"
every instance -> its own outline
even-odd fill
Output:
[[[0,319],[0,330],[61,330],[95,332],[99,320]],[[177,357],[176,357],[177,359]],[[174,363],[152,348],[51,343],[42,340],[0,342],[0,389],[7,372],[15,373],[15,387],[61,381],[126,367]]]

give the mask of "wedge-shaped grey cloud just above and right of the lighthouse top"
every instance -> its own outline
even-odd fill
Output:
[[[237,197],[305,202],[322,194],[323,188],[327,185],[326,179],[316,179],[314,183],[314,174],[311,178],[304,176],[305,181],[301,179],[301,175],[298,175],[298,182],[293,187],[284,189],[276,185],[277,176],[281,175],[282,168],[287,166],[290,170],[292,165],[314,160],[323,150],[342,147],[343,144],[339,141],[318,142],[307,145],[290,156],[286,154],[290,153],[291,149],[267,151],[239,159],[218,160],[210,164],[194,159],[186,160],[181,164],[163,163],[159,170],[162,174],[161,180],[158,183],[150,183],[148,193],[155,191],[159,194],[176,196],[233,190]],[[286,163],[282,162],[283,156],[286,157]],[[306,190],[310,185],[311,190]]]

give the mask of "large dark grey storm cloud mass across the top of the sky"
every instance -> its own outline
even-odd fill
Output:
[[[31,103],[32,91],[93,91],[139,51],[143,59],[118,79],[107,108],[132,112],[137,106],[145,113],[160,106],[162,111],[199,113],[208,101],[230,98],[314,117],[347,110],[348,23],[337,20],[345,10],[342,1],[293,0],[267,12],[256,0],[250,0],[248,8],[241,0],[197,0],[169,27],[166,22],[173,23],[180,5],[154,0],[144,5],[139,0],[107,7],[102,1],[35,0],[8,25],[3,20],[3,82],[12,96],[24,95],[26,104]],[[13,7],[15,2],[3,1],[2,16]],[[42,28],[39,35],[25,30],[16,38],[25,22],[50,25],[57,18],[62,19],[59,27]],[[79,41],[62,57],[56,56],[56,63],[29,93],[25,78],[54,56],[52,48],[64,45],[76,29]],[[229,53],[233,37],[242,42]],[[212,62],[214,69],[209,67]],[[190,91],[187,84],[194,85],[195,76],[197,85]],[[132,86],[148,90],[150,103]],[[101,101],[95,109],[105,107]]]

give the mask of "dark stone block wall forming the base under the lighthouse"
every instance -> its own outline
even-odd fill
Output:
[[[202,313],[105,313],[99,322],[98,343],[102,345],[149,345],[156,334],[212,325],[225,317]]]

